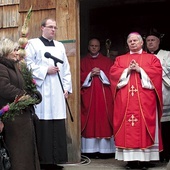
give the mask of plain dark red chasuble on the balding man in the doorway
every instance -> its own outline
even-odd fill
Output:
[[[87,55],[81,59],[81,135],[85,138],[113,136],[113,97],[110,85],[103,84],[101,77],[94,76],[90,87],[82,87],[94,67],[100,68],[109,79],[112,65],[112,60],[102,54],[96,58]]]

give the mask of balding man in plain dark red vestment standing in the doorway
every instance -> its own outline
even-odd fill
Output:
[[[88,49],[80,65],[82,153],[113,154],[113,98],[108,78],[113,61],[99,52],[98,39],[91,39]]]

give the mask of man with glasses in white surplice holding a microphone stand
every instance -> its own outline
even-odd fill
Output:
[[[54,19],[44,19],[42,36],[29,40],[26,46],[26,62],[42,94],[42,103],[35,108],[40,119],[36,124],[39,158],[42,168],[50,170],[62,169],[57,164],[68,159],[65,98],[72,92],[70,65],[64,45],[54,40],[56,29]],[[55,57],[63,63],[55,63]]]

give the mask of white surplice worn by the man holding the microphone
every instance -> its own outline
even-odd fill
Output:
[[[64,45],[54,40],[55,46],[45,46],[39,38],[29,40],[26,46],[26,62],[33,71],[37,84],[37,90],[43,95],[42,102],[35,107],[40,119],[65,119],[66,103],[62,90],[72,93],[71,73]],[[47,75],[50,65],[54,66],[54,60],[46,58],[44,54],[49,52],[64,63],[57,63],[59,74]],[[59,80],[61,79],[61,82]]]

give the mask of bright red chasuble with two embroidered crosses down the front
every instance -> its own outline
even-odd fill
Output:
[[[124,69],[134,59],[150,78],[154,89],[142,87],[141,76],[132,71],[127,85],[117,89]],[[162,115],[162,67],[152,54],[126,54],[116,58],[110,69],[114,98],[114,139],[119,148],[145,149],[154,144],[158,112],[159,149],[162,150],[160,118]]]

